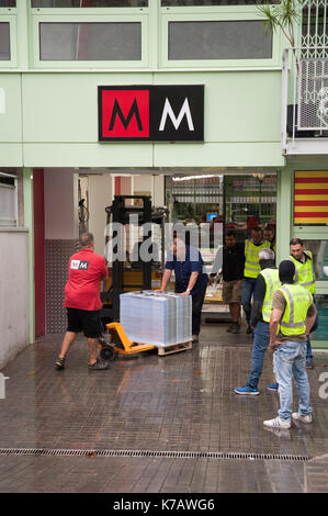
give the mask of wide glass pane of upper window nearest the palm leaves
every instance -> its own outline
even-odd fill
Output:
[[[169,23],[169,59],[265,59],[272,33],[262,21]]]

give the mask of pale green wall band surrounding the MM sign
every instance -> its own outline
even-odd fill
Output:
[[[3,80],[3,78],[5,80]],[[205,85],[205,142],[98,143],[98,86]],[[281,167],[280,71],[11,74],[0,166]]]

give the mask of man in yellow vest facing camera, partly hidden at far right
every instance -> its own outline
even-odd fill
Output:
[[[302,284],[308,292],[314,294],[316,293],[316,278],[314,272],[314,262],[312,251],[306,249],[305,245],[301,238],[293,238],[290,243],[291,256],[290,259],[295,265],[295,282]],[[316,304],[315,298],[314,303]],[[310,332],[315,332],[318,326],[318,319],[316,318],[314,327],[310,328]],[[313,355],[309,334],[307,336],[306,343],[306,367],[313,368]]]

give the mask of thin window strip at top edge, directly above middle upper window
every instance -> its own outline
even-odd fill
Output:
[[[31,0],[32,8],[146,8],[148,0]]]

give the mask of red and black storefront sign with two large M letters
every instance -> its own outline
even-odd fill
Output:
[[[100,142],[203,142],[204,86],[99,86]]]

